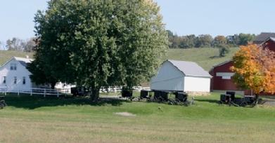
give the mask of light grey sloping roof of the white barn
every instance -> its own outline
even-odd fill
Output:
[[[179,60],[167,60],[171,62],[174,67],[177,67],[179,71],[183,72],[186,76],[199,76],[199,77],[212,77],[205,71],[202,67],[200,67],[196,62],[187,62],[187,61],[179,61]]]

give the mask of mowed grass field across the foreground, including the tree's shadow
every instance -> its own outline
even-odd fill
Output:
[[[0,142],[275,141],[275,107],[228,107],[218,100],[219,93],[212,93],[182,107],[9,95],[8,107],[0,110]]]

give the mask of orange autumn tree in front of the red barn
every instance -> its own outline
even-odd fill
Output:
[[[233,57],[234,82],[239,88],[251,89],[256,95],[275,93],[275,53],[255,44],[241,46]]]

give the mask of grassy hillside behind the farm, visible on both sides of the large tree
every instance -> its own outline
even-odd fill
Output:
[[[226,57],[217,57],[218,48],[188,48],[188,49],[170,49],[162,60],[186,60],[197,62],[205,70],[210,70],[213,65],[230,60],[238,48],[230,48],[231,51]],[[32,57],[33,53],[25,53],[12,50],[0,50],[0,64],[4,64],[11,57]]]

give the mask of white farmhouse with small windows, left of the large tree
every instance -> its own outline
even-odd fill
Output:
[[[6,88],[8,91],[30,91],[32,88],[31,73],[26,68],[30,62],[30,58],[12,57],[3,64],[0,67],[1,88]]]

